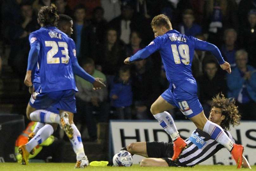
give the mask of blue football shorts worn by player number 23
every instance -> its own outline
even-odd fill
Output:
[[[31,107],[54,113],[59,113],[59,110],[76,113],[75,90],[40,93],[40,85],[34,85],[34,88],[36,91],[29,100]]]

